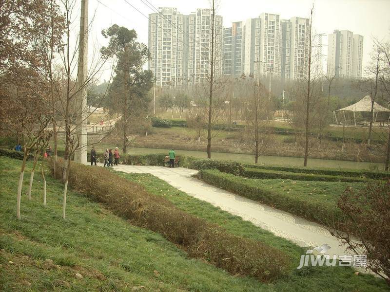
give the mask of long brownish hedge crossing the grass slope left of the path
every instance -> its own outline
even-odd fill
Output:
[[[56,176],[60,177],[62,169],[57,170]],[[107,204],[133,224],[160,233],[190,256],[205,258],[231,274],[251,275],[268,282],[287,274],[291,265],[289,257],[280,250],[229,234],[102,167],[72,163],[69,185],[90,199]]]

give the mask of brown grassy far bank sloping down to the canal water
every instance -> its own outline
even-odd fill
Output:
[[[147,136],[138,136],[134,147],[144,148],[175,148],[187,151],[206,151],[207,140],[201,138],[200,142],[195,137],[196,133],[191,128],[152,128]],[[262,155],[284,156],[302,158],[303,147],[295,144],[292,135],[275,135],[271,147],[265,149]],[[242,142],[241,134],[237,131],[229,132],[221,130],[212,141],[212,151],[234,154],[251,154],[252,150]],[[311,158],[330,159],[353,162],[383,163],[385,149],[381,145],[372,146],[368,151],[363,144],[345,143],[323,140],[311,149]]]

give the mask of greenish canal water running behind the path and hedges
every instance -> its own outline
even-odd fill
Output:
[[[169,149],[161,148],[141,148],[133,147],[128,148],[128,154],[151,154],[151,153],[167,153]],[[205,151],[189,151],[189,150],[175,150],[177,156],[186,155],[197,158],[207,158]],[[223,160],[235,160],[242,163],[254,163],[254,156],[251,154],[239,154],[239,153],[223,153],[212,152],[211,158],[223,159]],[[258,159],[259,164],[270,165],[285,165],[285,166],[303,166],[303,158],[298,157],[285,157],[285,156],[260,156]],[[343,160],[330,160],[330,159],[315,159],[309,158],[309,167],[326,167],[326,168],[350,168],[350,169],[370,169],[373,166],[377,166],[379,170],[384,169],[384,164],[369,163],[369,162],[353,162]]]

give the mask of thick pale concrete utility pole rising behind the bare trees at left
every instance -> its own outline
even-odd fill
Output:
[[[78,149],[75,151],[75,162],[87,163],[87,74],[88,74],[88,0],[81,0],[80,36],[78,45],[77,73],[77,118],[76,132]]]

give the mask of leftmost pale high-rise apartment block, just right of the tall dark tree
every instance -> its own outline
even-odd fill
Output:
[[[211,70],[211,9],[183,15],[159,8],[149,15],[148,69],[156,85],[179,85],[208,78]],[[215,16],[215,75],[222,71],[222,17]]]

